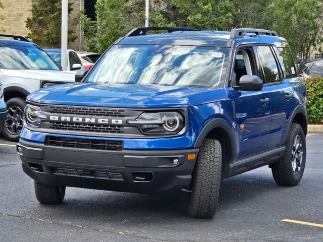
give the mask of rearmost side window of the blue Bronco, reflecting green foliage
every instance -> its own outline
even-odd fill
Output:
[[[285,78],[296,77],[294,59],[290,48],[274,47]]]

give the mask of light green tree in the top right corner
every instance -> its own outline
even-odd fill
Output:
[[[323,3],[320,0],[272,0],[267,19],[303,62],[323,43]]]

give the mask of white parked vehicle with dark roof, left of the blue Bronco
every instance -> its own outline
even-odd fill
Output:
[[[3,135],[18,141],[28,94],[42,87],[75,82],[74,78],[75,72],[62,71],[37,44],[21,36],[0,34],[0,82],[8,109],[1,127]]]

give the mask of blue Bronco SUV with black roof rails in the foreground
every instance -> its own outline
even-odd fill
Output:
[[[222,179],[269,165],[279,185],[301,180],[306,89],[295,71],[273,31],[136,28],[81,82],[27,97],[23,170],[42,204],[61,203],[66,187],[184,190],[189,215],[211,218]]]

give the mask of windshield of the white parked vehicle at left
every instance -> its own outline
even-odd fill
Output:
[[[0,68],[9,70],[60,70],[41,49],[32,46],[1,46]]]

